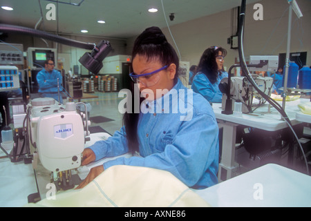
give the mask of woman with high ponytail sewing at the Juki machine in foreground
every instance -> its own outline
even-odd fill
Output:
[[[85,148],[82,165],[129,152],[139,156],[118,157],[93,167],[77,189],[114,165],[169,171],[195,189],[216,184],[219,150],[214,112],[201,95],[178,79],[178,55],[160,28],[147,28],[138,36],[132,57],[130,76],[135,84],[131,91],[135,95],[133,90],[139,89],[140,110],[133,105],[124,113],[120,131]]]

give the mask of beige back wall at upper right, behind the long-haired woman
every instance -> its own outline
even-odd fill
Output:
[[[303,13],[297,19],[293,12],[292,35],[290,52],[307,51],[307,65],[311,65],[311,1],[296,0]],[[255,21],[254,3],[247,5],[245,17],[244,52],[249,55],[279,55],[286,52],[288,32],[288,1],[263,0],[263,21]],[[189,13],[191,12],[189,10]],[[215,15],[202,17],[175,26],[170,26],[173,37],[180,50],[181,60],[189,61],[190,66],[198,64],[202,52],[209,46],[222,46],[227,49],[225,58],[227,70],[238,58],[238,50],[230,49],[227,38],[231,36],[231,10]],[[178,19],[176,17],[176,19]],[[156,24],[155,24],[156,25]],[[147,28],[147,27],[146,27]],[[169,42],[175,47],[169,30],[162,28]],[[135,37],[127,41],[127,53],[131,54],[131,47]]]

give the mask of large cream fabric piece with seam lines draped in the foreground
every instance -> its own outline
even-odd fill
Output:
[[[210,206],[167,171],[140,166],[112,166],[83,189],[26,206],[163,207]]]

